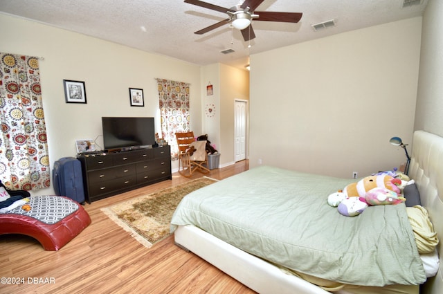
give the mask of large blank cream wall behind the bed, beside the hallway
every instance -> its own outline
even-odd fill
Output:
[[[351,177],[392,169],[413,133],[422,18],[251,56],[250,165]]]

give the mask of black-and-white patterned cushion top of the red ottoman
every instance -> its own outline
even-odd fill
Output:
[[[60,196],[33,196],[30,197],[28,204],[31,207],[30,211],[23,210],[19,206],[3,214],[22,214],[52,225],[78,210],[77,203]]]

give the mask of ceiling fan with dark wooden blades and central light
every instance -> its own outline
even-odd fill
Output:
[[[281,22],[293,22],[297,23],[302,18],[302,13],[298,12],[266,12],[255,11],[255,8],[260,6],[264,0],[245,0],[242,4],[238,4],[231,8],[224,8],[215,4],[207,3],[199,0],[185,0],[185,3],[190,3],[203,8],[208,8],[218,12],[224,12],[229,15],[228,19],[217,22],[212,26],[197,30],[195,34],[203,35],[210,30],[224,26],[225,24],[232,24],[234,28],[237,28],[242,32],[243,39],[249,41],[255,38],[255,33],[251,25],[251,20],[257,21],[281,21]]]

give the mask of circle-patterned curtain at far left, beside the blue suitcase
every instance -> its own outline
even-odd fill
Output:
[[[37,57],[0,53],[0,179],[10,190],[49,187]]]

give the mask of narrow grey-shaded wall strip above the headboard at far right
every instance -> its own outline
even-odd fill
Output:
[[[429,0],[423,16],[414,129],[443,136],[443,1]]]

